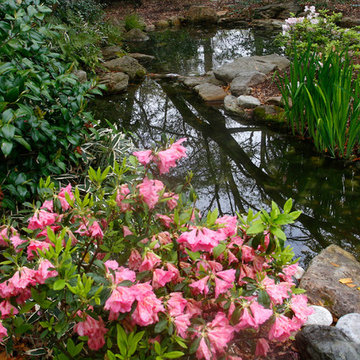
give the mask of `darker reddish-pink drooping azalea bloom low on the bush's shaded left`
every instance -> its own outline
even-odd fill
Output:
[[[105,345],[104,335],[108,332],[101,318],[95,320],[86,314],[84,321],[74,326],[74,331],[80,336],[88,337],[88,346],[91,350],[99,350]]]

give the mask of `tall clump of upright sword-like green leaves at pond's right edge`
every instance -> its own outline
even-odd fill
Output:
[[[294,52],[290,76],[279,77],[293,133],[311,137],[318,151],[350,157],[360,136],[360,87],[347,51],[327,57]]]

